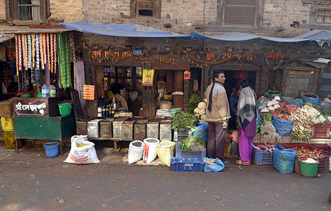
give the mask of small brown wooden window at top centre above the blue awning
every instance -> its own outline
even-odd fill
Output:
[[[131,17],[161,18],[161,0],[131,0]]]

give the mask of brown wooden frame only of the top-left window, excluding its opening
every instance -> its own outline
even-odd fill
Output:
[[[5,0],[6,19],[12,25],[31,25],[31,24],[48,24],[50,16],[50,1],[40,0],[40,20],[21,21],[19,20],[19,3],[17,0]]]

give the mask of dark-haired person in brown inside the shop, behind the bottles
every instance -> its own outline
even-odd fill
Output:
[[[117,108],[122,110],[129,110],[128,102],[126,101],[126,98],[124,98],[124,93],[126,93],[126,88],[119,84],[114,84],[110,87],[110,90],[107,92],[107,96],[109,100],[112,100],[114,98],[115,102],[119,104]]]

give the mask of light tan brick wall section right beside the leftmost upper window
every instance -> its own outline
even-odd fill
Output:
[[[82,8],[82,0],[50,0],[50,19],[66,23],[83,21]]]

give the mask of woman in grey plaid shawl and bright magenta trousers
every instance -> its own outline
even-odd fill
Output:
[[[237,108],[240,159],[236,164],[248,166],[252,158],[253,138],[257,129],[257,96],[250,88],[248,80],[241,81],[241,88]]]

